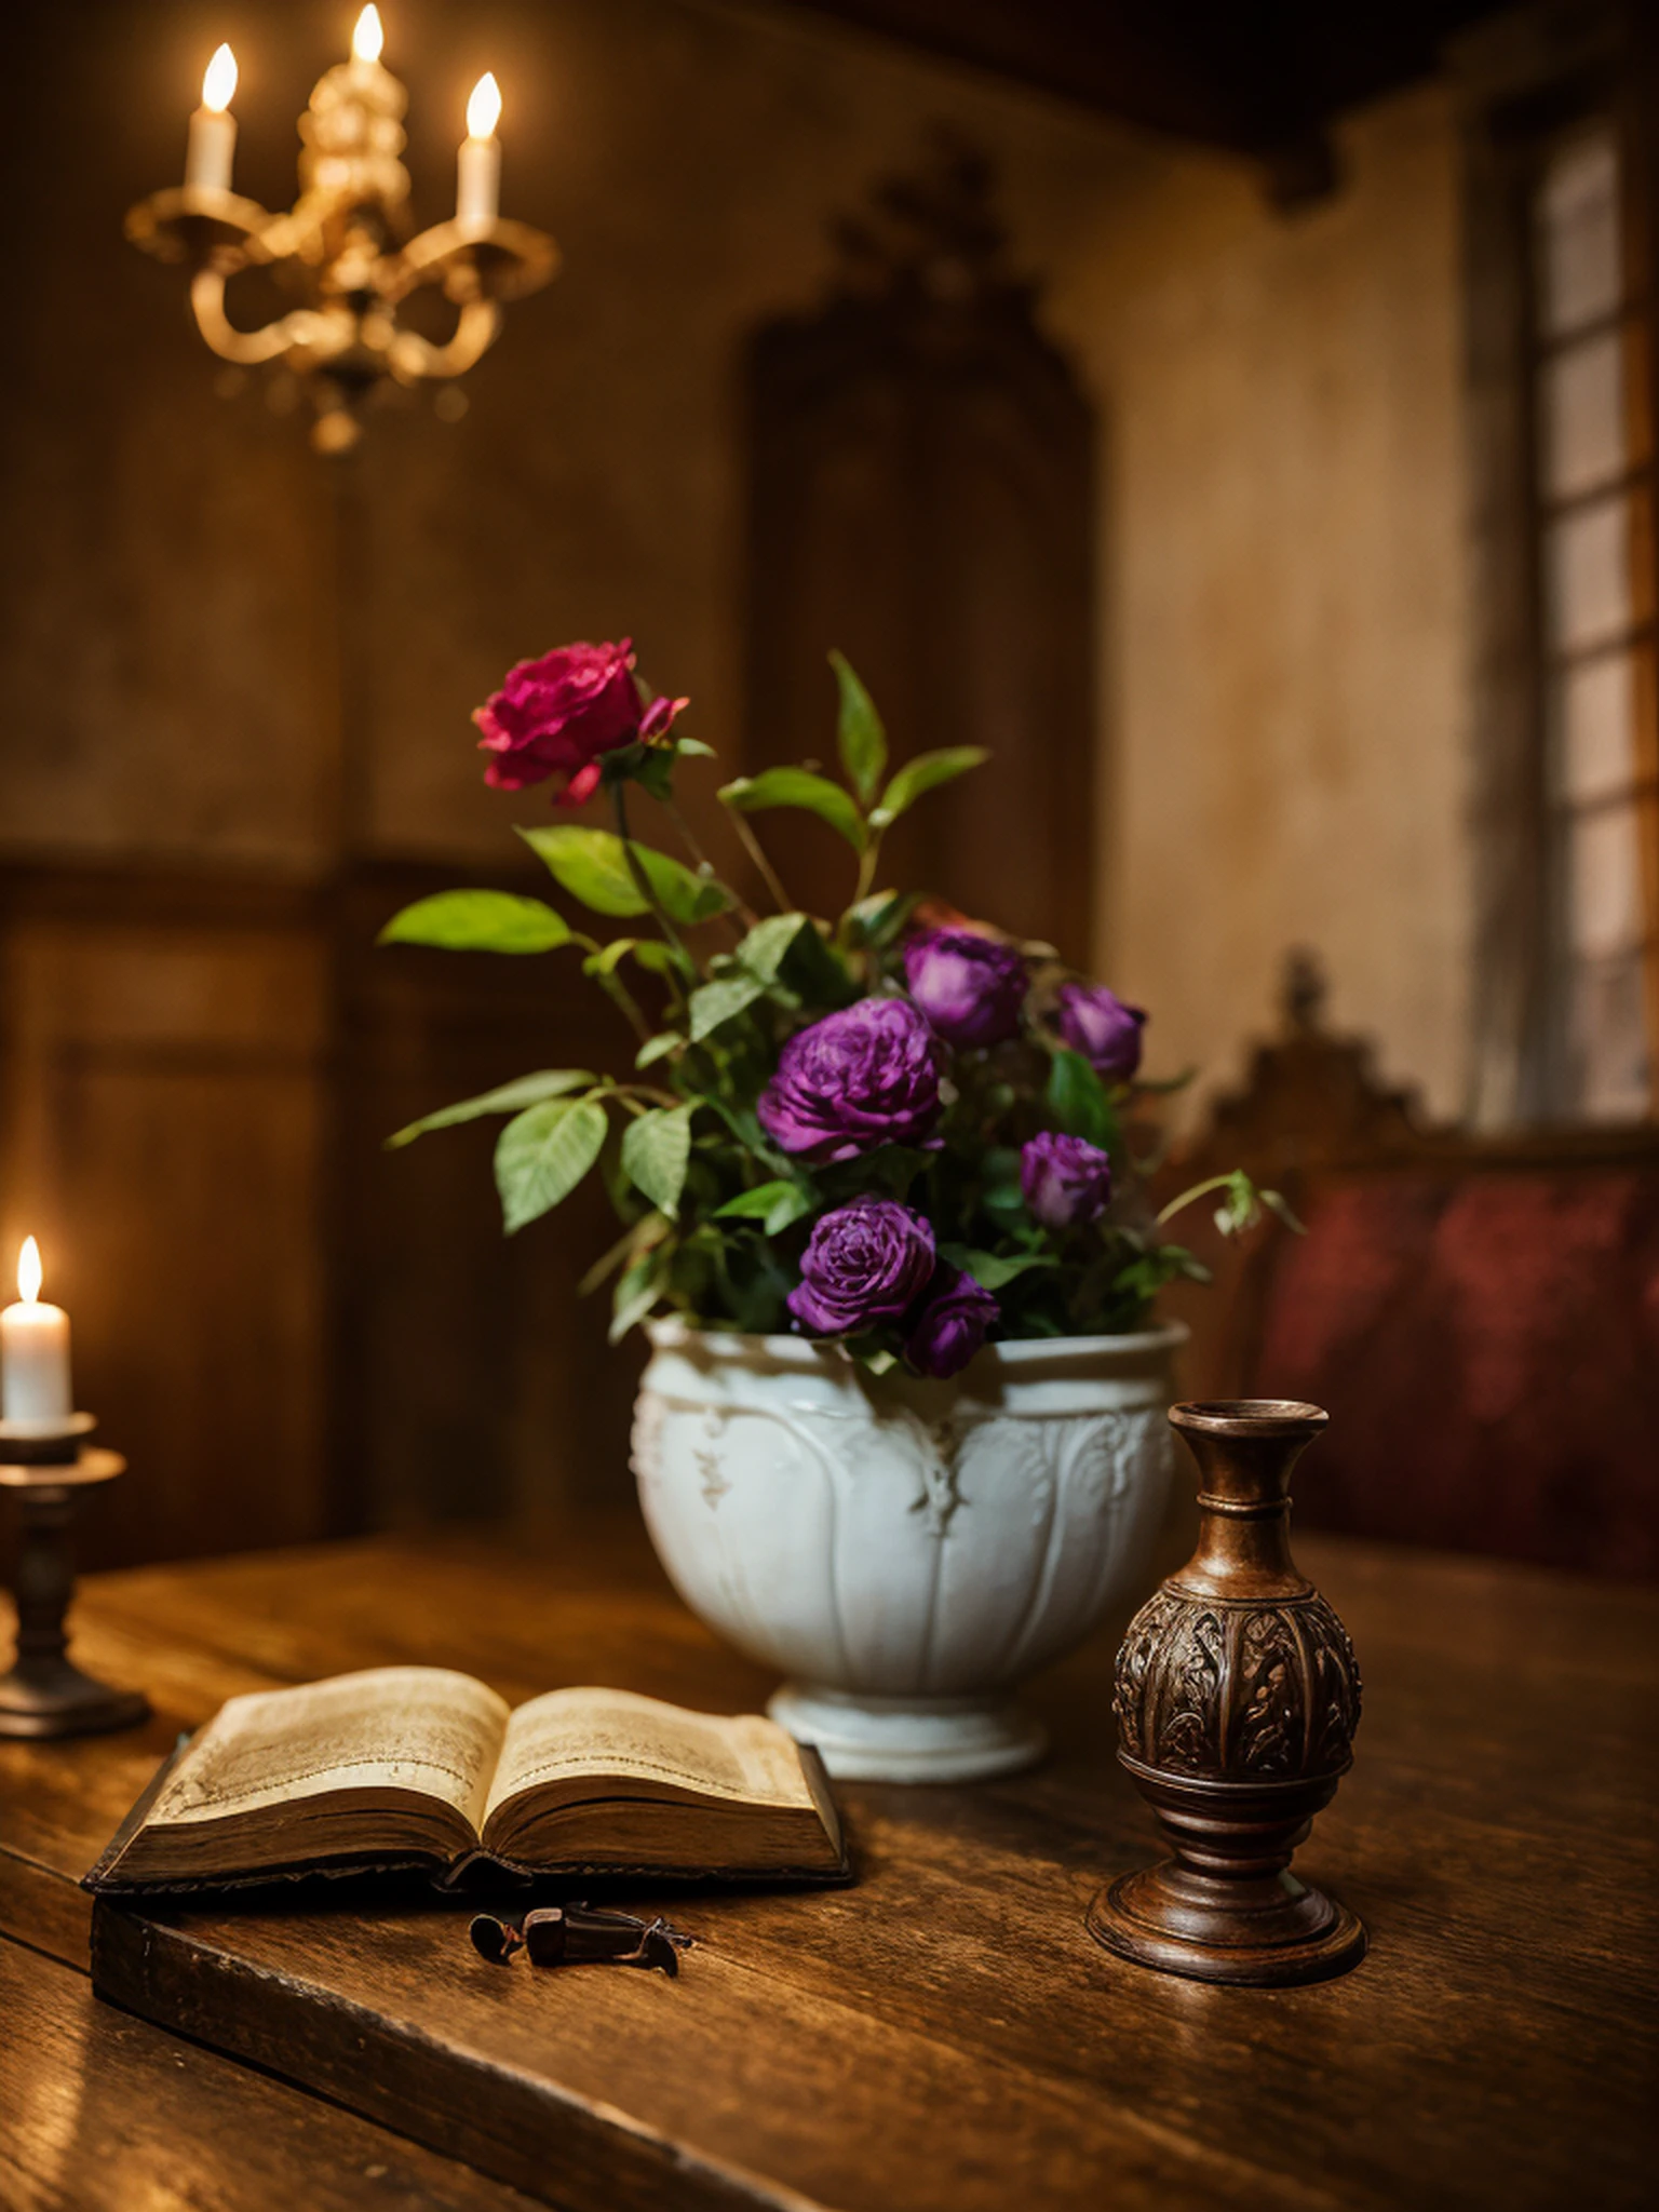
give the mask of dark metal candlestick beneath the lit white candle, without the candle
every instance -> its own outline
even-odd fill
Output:
[[[71,1413],[66,1422],[0,1420],[0,1489],[22,1506],[22,1542],[13,1575],[18,1655],[0,1674],[0,1736],[91,1736],[137,1728],[150,1701],[137,1690],[113,1690],[69,1657],[64,1615],[75,1595],[69,1524],[75,1493],[113,1482],[126,1469],[119,1451],[88,1442],[97,1422]]]

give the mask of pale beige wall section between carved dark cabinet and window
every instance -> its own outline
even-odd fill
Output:
[[[1102,945],[1157,1060],[1230,1073],[1287,947],[1440,1113],[1464,1088],[1462,431],[1453,133],[1343,131],[1283,219],[1148,157],[1055,301],[1113,425]]]

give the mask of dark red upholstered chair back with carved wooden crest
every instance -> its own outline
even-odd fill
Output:
[[[1183,1301],[1186,1387],[1329,1409],[1301,1524],[1659,1575],[1659,1130],[1425,1130],[1303,1002],[1170,1181],[1234,1161],[1307,1237]]]

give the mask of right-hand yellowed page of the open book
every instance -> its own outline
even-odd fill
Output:
[[[814,1805],[801,1756],[774,1721],[684,1712],[633,1690],[551,1690],[507,1723],[484,1818],[524,1790],[584,1774],[761,1805]]]

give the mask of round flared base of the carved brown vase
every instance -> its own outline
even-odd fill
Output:
[[[1177,1882],[1175,1860],[1121,1876],[1088,1907],[1088,1933],[1137,1966],[1243,1989],[1329,1982],[1365,1958],[1360,1918],[1294,1876],[1281,1876],[1281,1905],[1250,1913],[1194,1913]]]

